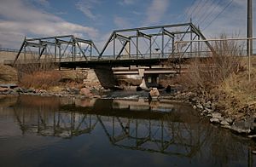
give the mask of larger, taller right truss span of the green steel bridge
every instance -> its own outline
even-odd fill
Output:
[[[184,54],[192,55],[192,49],[200,49],[200,43],[177,43],[184,40],[206,39],[193,23],[164,26],[147,26],[113,31],[104,45],[99,58],[112,55],[113,60],[120,59],[162,59],[179,58]],[[207,41],[206,41],[207,43]],[[213,51],[211,45],[207,46]]]

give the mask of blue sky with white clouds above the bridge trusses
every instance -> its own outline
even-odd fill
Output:
[[[19,49],[24,37],[73,34],[102,49],[113,30],[190,18],[206,37],[246,37],[247,0],[0,0],[0,47]]]

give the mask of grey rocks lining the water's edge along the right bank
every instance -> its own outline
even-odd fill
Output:
[[[218,124],[240,135],[256,138],[256,112],[254,110],[228,115],[225,114],[224,110],[220,109],[218,101],[205,101],[193,92],[177,92],[171,97],[166,98],[189,102],[195,110],[200,112],[202,117],[209,118],[212,124]]]

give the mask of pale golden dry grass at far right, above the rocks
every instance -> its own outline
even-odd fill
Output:
[[[256,69],[252,70],[251,82],[247,72],[232,74],[218,87],[219,106],[226,114],[255,112],[256,110]]]

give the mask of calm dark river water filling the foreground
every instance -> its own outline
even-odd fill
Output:
[[[0,98],[3,167],[256,166],[254,148],[178,102]]]

